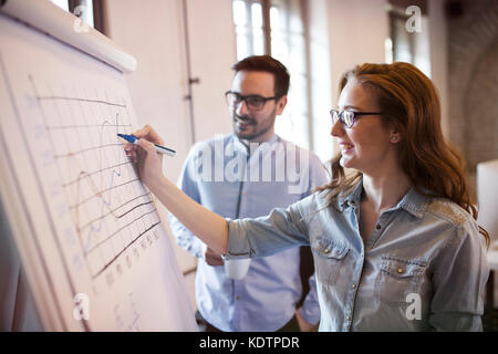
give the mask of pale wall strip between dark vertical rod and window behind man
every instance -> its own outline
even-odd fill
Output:
[[[225,103],[237,61],[231,0],[188,0],[196,139],[232,131]]]

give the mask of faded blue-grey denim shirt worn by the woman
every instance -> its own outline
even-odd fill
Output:
[[[332,206],[321,191],[266,217],[228,219],[227,259],[311,244],[320,331],[481,331],[489,269],[471,216],[412,188],[364,243],[362,190]]]

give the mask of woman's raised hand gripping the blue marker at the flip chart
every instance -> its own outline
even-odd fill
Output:
[[[163,155],[157,154],[154,144],[164,145],[164,140],[148,124],[133,135],[139,138],[139,146],[126,144],[126,156],[135,165],[141,180],[153,190],[164,178]]]

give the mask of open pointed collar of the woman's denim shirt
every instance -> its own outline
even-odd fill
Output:
[[[363,191],[363,179],[354,187],[350,194],[340,194],[338,201],[342,210],[350,206],[360,205]],[[391,210],[405,209],[414,217],[422,218],[425,215],[429,197],[424,196],[412,187],[400,202]]]

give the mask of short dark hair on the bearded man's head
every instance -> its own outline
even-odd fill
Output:
[[[248,56],[237,62],[231,69],[235,70],[236,73],[242,70],[271,73],[274,77],[274,95],[280,98],[289,92],[290,75],[287,67],[270,55]]]

